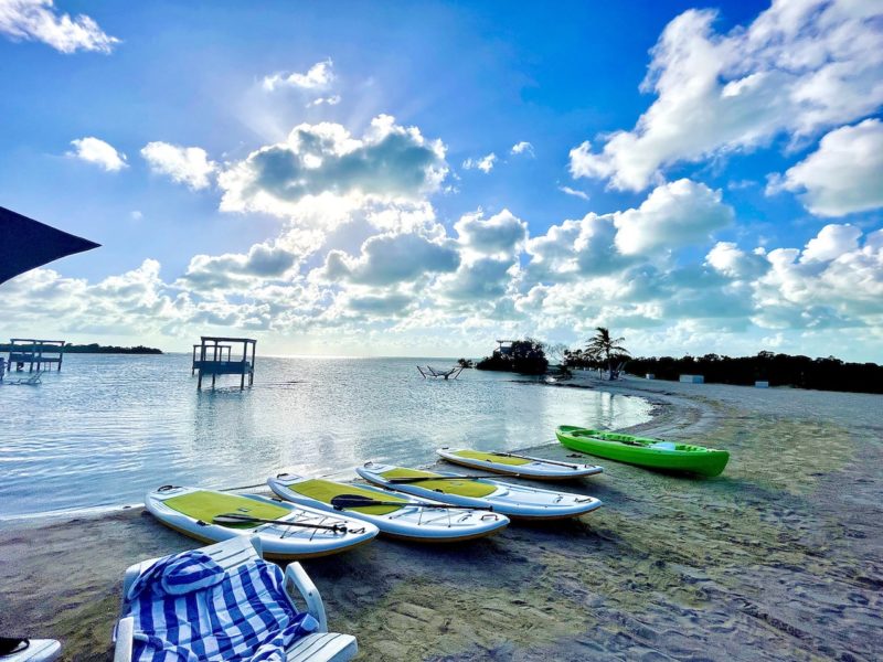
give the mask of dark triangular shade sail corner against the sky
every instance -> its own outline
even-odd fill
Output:
[[[0,282],[100,244],[0,207]]]

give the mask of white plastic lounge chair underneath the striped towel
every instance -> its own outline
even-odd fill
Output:
[[[236,536],[223,543],[202,547],[200,552],[211,556],[225,570],[262,558],[260,541],[257,536]],[[126,613],[128,607],[126,596],[129,594],[129,588],[156,560],[156,558],[143,560],[126,570],[123,580],[123,613]],[[286,568],[284,589],[286,597],[296,610],[305,611],[298,606],[298,600],[302,600],[306,605],[306,612],[319,622],[317,632],[297,639],[286,649],[287,662],[307,662],[308,660],[309,662],[345,662],[355,656],[359,652],[355,637],[328,631],[322,597],[299,563],[290,563]],[[134,627],[132,617],[121,618],[117,623],[114,662],[131,661]]]

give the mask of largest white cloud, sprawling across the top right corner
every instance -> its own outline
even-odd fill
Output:
[[[689,10],[652,50],[650,108],[634,129],[574,148],[571,172],[638,191],[679,161],[865,117],[883,103],[882,17],[880,2],[777,0],[747,29],[720,34],[715,11]]]

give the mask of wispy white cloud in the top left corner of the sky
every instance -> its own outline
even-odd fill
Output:
[[[60,14],[52,0],[0,0],[0,32],[13,40],[43,42],[62,53],[109,53],[119,43],[91,17]]]

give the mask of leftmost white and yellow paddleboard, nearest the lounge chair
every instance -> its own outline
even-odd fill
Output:
[[[199,510],[194,510],[199,500]],[[345,532],[260,523],[225,526],[213,524],[211,513],[273,513],[265,519],[322,525],[342,525]],[[148,512],[168,526],[202,543],[219,543],[240,535],[256,535],[268,558],[300,560],[338,554],[371,542],[379,533],[376,526],[343,514],[331,516],[313,509],[295,506],[255,494],[241,495],[199,488],[164,487],[145,495]]]

